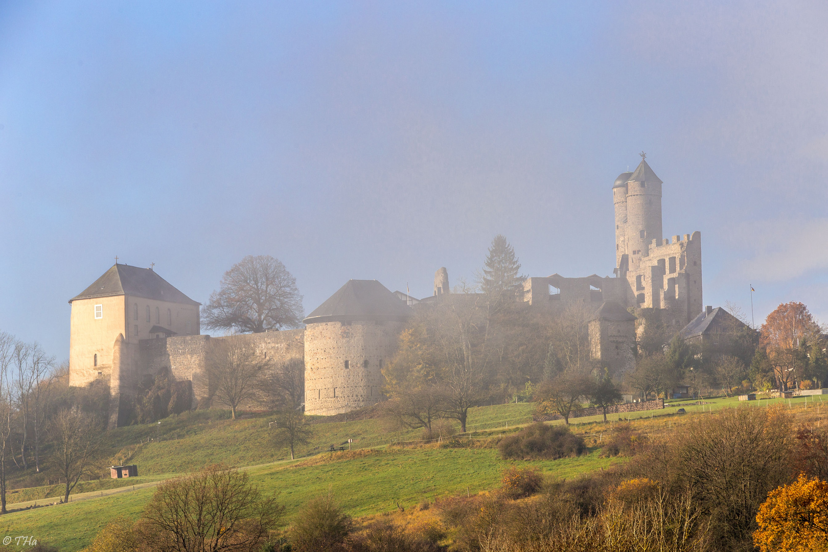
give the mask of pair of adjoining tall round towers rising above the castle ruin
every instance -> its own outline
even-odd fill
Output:
[[[645,154],[641,156],[633,174],[622,173],[613,186],[618,266],[623,255],[636,266],[649,253],[652,240],[662,242],[662,180],[647,165]]]

